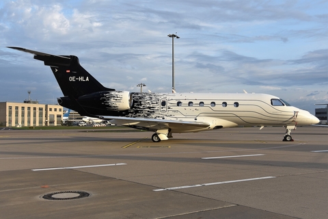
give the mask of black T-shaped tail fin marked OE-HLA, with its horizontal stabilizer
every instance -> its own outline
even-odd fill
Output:
[[[32,53],[34,54],[34,59],[43,61],[44,65],[50,66],[64,96],[72,96],[74,99],[78,99],[79,96],[85,94],[115,90],[102,86],[99,81],[92,77],[92,75],[79,64],[79,58],[77,56],[51,55],[20,47],[8,48]]]

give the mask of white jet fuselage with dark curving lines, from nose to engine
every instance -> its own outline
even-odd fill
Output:
[[[173,120],[171,132],[206,131],[238,126],[312,125],[318,119],[305,110],[288,105],[269,94],[224,93],[131,93],[132,105],[126,117]],[[207,123],[207,127],[181,125],[178,122]],[[149,129],[161,129],[150,120],[124,123]],[[148,125],[149,124],[149,125]]]

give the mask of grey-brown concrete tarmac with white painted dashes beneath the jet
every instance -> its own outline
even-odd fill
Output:
[[[2,130],[0,218],[328,218],[328,128],[284,131]]]

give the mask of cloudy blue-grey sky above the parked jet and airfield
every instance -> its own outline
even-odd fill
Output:
[[[104,86],[257,92],[314,114],[328,102],[328,1],[43,1],[0,3],[0,101],[53,103],[49,67],[23,47],[77,55]]]

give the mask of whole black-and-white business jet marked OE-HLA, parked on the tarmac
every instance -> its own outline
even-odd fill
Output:
[[[172,133],[198,132],[230,127],[281,126],[284,141],[297,126],[313,125],[318,118],[269,94],[196,94],[128,92],[105,88],[80,64],[74,55],[32,53],[34,59],[50,66],[64,96],[59,105],[111,123],[153,131],[153,142],[168,140]]]

